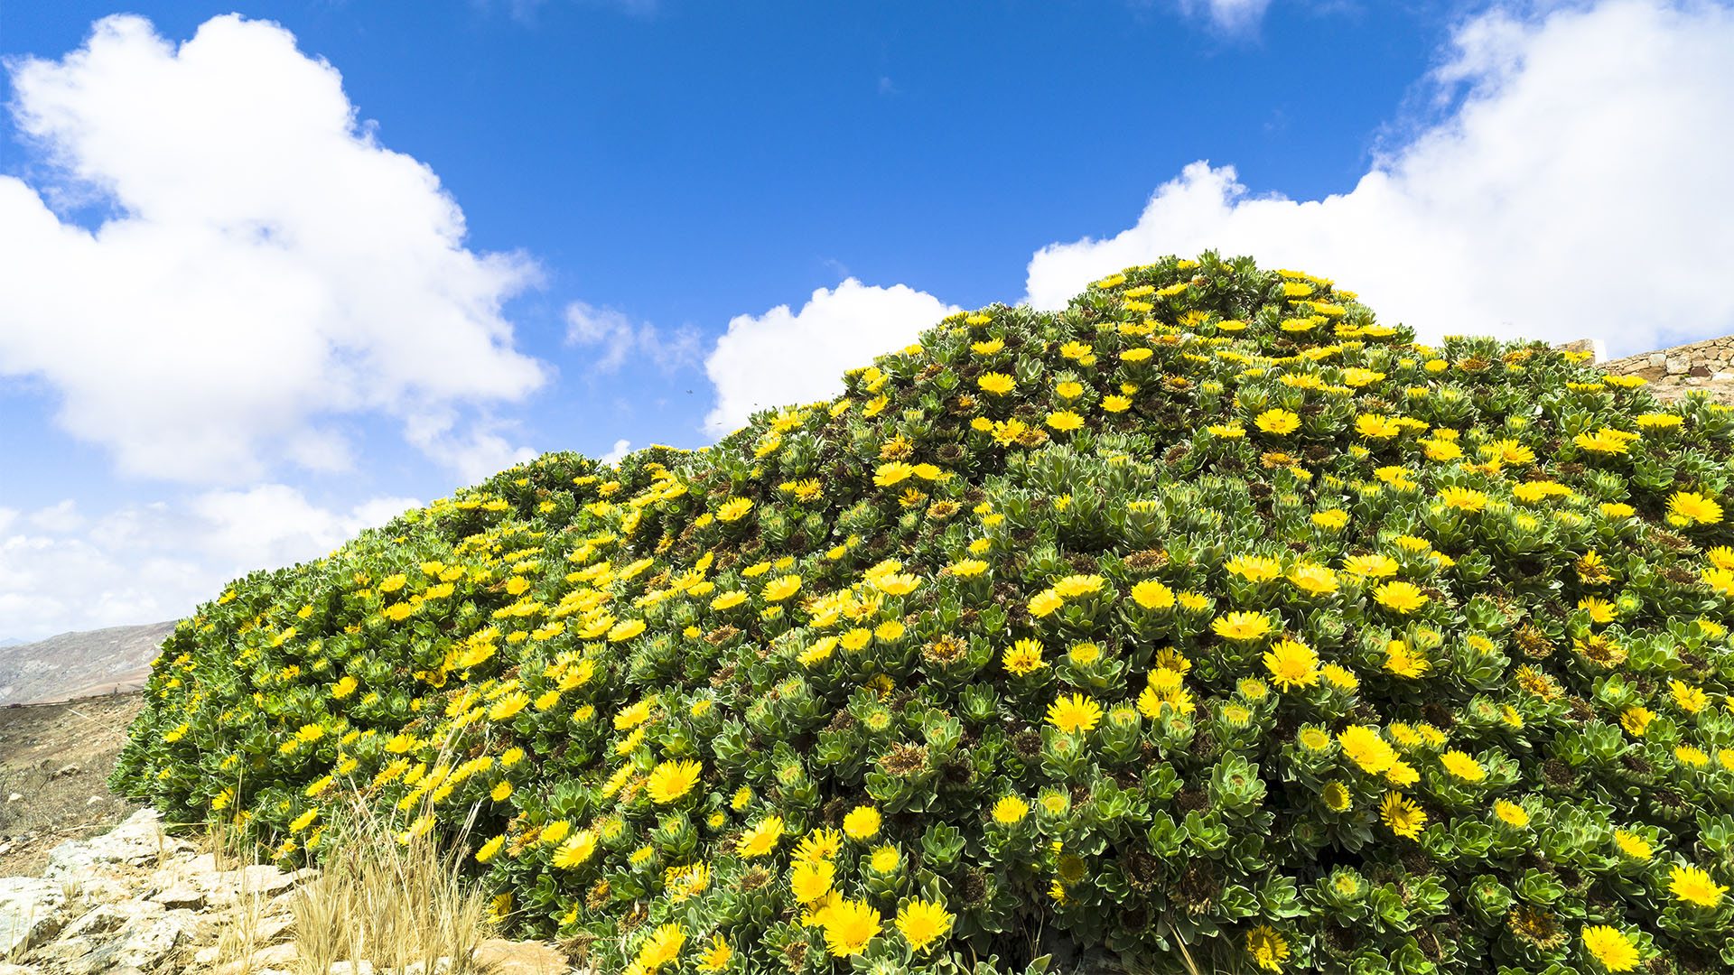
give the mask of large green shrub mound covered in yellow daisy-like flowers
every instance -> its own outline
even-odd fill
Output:
[[[250,576],[116,782],[359,793],[600,972],[1727,972],[1731,446],[1167,258]]]

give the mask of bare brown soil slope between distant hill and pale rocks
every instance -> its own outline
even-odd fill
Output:
[[[0,706],[0,876],[36,876],[59,843],[139,808],[109,791],[108,777],[140,708],[137,692]]]

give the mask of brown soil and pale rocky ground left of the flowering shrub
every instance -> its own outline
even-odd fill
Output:
[[[295,900],[317,871],[239,862],[109,791],[140,706],[0,706],[0,975],[310,975]],[[569,972],[553,946],[506,940],[484,942],[470,968]]]

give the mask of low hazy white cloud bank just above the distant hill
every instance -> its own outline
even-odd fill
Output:
[[[420,503],[375,498],[336,512],[262,484],[125,505],[94,520],[69,519],[71,501],[0,508],[0,631],[40,638],[173,619],[227,579],[316,559]]]

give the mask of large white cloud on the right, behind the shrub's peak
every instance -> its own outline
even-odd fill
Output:
[[[1424,337],[1606,338],[1614,356],[1734,331],[1734,12],[1606,2],[1465,21],[1446,116],[1346,194],[1257,196],[1193,163],[1108,239],[1042,248],[1028,302],[1205,248],[1327,274]]]

